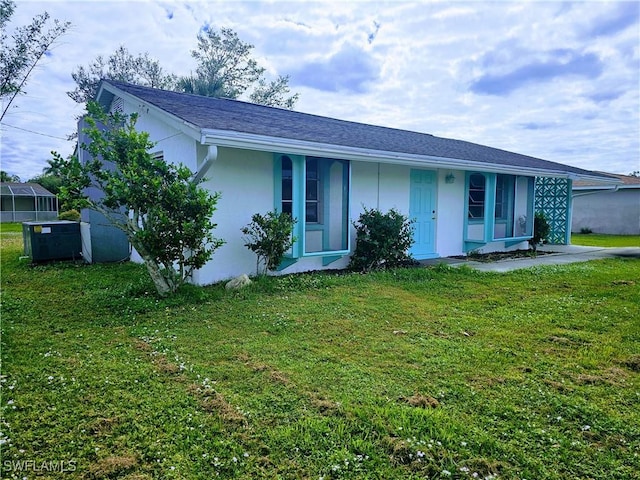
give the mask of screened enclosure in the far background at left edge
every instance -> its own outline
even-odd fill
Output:
[[[58,218],[58,198],[37,183],[0,183],[0,221],[50,221]]]

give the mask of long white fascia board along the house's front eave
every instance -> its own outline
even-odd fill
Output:
[[[345,147],[326,143],[315,143],[279,137],[267,137],[228,130],[202,130],[202,143],[219,147],[234,147],[246,150],[261,150],[292,155],[329,156],[343,160],[379,162],[420,168],[440,168],[452,170],[473,170],[478,172],[506,173],[540,177],[572,178],[569,172],[541,170],[536,168],[507,166],[500,164],[473,162],[430,155],[385,152],[365,148]]]

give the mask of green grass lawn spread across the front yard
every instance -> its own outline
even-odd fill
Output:
[[[30,266],[19,232],[3,478],[638,478],[638,260],[160,300],[138,265]]]

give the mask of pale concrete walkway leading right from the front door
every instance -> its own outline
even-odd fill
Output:
[[[467,265],[481,272],[509,272],[521,268],[536,267],[538,265],[566,265],[576,262],[587,262],[600,258],[637,258],[640,259],[639,247],[583,247],[579,245],[544,245],[538,248],[544,255],[537,257],[511,258],[495,262],[476,262],[454,258],[435,258],[424,262],[427,265],[446,263],[451,266]],[[423,263],[423,262],[421,262]]]

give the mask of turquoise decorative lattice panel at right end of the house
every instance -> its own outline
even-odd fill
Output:
[[[571,180],[567,178],[536,178],[535,209],[544,213],[549,222],[549,243],[567,243],[569,210],[571,204]]]

